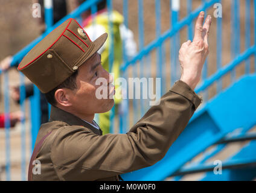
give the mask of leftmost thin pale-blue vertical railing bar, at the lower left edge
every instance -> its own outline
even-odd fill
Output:
[[[9,100],[9,76],[4,73],[4,127],[5,127],[5,176],[11,180],[11,159],[10,159],[10,100]]]

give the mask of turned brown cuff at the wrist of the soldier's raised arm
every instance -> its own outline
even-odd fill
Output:
[[[174,83],[174,86],[170,89],[171,92],[175,92],[179,95],[187,98],[191,103],[194,104],[195,109],[202,103],[202,97],[199,97],[193,89],[184,81],[178,80]]]

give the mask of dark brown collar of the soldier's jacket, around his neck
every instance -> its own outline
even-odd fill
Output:
[[[83,127],[89,128],[95,134],[102,135],[101,129],[98,130],[88,122],[85,122],[77,116],[54,106],[51,106],[50,121],[63,121],[69,125],[82,125]]]

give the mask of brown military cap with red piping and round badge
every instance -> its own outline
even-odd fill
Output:
[[[94,42],[74,19],[68,19],[42,39],[18,66],[42,93],[53,90],[86,62],[107,39]]]

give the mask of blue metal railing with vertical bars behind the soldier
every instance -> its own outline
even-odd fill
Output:
[[[80,14],[82,14],[84,11],[91,9],[92,14],[97,12],[97,3],[102,0],[91,0],[86,1],[80,7],[72,11],[67,16],[63,17],[59,22],[53,25],[53,7],[52,4],[46,4],[45,7],[45,22],[46,22],[46,31],[42,34],[42,36],[38,37],[36,40],[31,42],[28,46],[26,46],[24,49],[19,51],[17,54],[13,56],[13,60],[11,62],[11,65],[16,65],[17,63],[21,62],[22,58],[25,54],[27,54],[28,51],[30,51],[31,48],[33,48],[34,45],[36,45],[40,40],[43,39],[48,33],[54,30],[57,26],[62,24],[62,22],[66,21],[66,19],[70,17],[80,17]],[[46,1],[48,2],[48,1]],[[50,2],[50,1],[49,1]],[[145,1],[138,0],[138,53],[132,58],[128,59],[126,52],[124,51],[123,46],[123,65],[120,67],[120,71],[123,77],[128,79],[130,77],[130,72],[132,72],[132,77],[159,77],[161,78],[161,95],[166,91],[167,89],[167,74],[170,75],[170,84],[173,84],[174,81],[178,80],[179,78],[179,68],[178,68],[178,51],[180,47],[180,32],[183,28],[187,28],[187,38],[192,40],[193,39],[193,21],[196,19],[197,15],[200,13],[200,11],[205,10],[207,11],[209,8],[213,7],[216,3],[222,3],[221,0],[211,0],[211,1],[205,1],[202,0],[202,4],[200,7],[196,8],[196,10],[193,10],[193,1],[187,0],[185,2],[187,4],[187,16],[184,17],[184,19],[179,19],[179,7],[181,4],[184,4],[185,1],[179,1],[179,0],[170,0],[170,29],[165,31],[164,33],[161,33],[161,1],[155,1],[155,18],[156,18],[156,38],[148,45],[145,45],[145,39],[146,34],[144,33],[144,5]],[[254,18],[256,18],[256,5],[254,1]],[[235,67],[240,65],[242,62],[246,62],[246,74],[249,74],[250,72],[250,57],[256,54],[256,38],[254,41],[254,45],[251,45],[251,1],[246,0],[246,22],[245,22],[245,48],[246,50],[243,53],[240,53],[240,17],[239,17],[239,1],[235,0],[232,1],[232,30],[231,30],[231,37],[232,45],[231,45],[231,51],[232,51],[232,60],[230,63],[222,67],[222,18],[217,18],[217,26],[216,26],[216,66],[217,66],[217,72],[211,77],[208,77],[208,68],[209,64],[206,62],[205,67],[203,69],[203,81],[202,83],[197,87],[196,92],[207,92],[208,88],[215,82],[217,82],[217,92],[219,93],[223,89],[223,83],[222,83],[222,77],[229,72],[231,72],[231,80],[232,82],[235,80]],[[128,26],[128,18],[129,18],[129,1],[123,0],[123,16],[124,16],[124,25],[126,27]],[[112,0],[107,0],[107,10],[109,13],[113,10],[113,4]],[[109,14],[110,17],[110,14]],[[256,37],[256,19],[254,19],[254,37]],[[111,71],[113,62],[114,62],[114,34],[112,32],[113,24],[112,22],[109,22],[109,39],[110,39],[110,55],[109,55],[109,71]],[[134,31],[134,33],[137,33]],[[214,32],[213,32],[214,33]],[[170,40],[170,50],[165,48],[165,42],[167,40]],[[156,74],[153,75],[153,65],[152,61],[153,59],[153,52],[156,51]],[[169,51],[170,55],[170,61],[166,61],[167,57],[166,54]],[[167,65],[170,65],[170,73],[166,72],[165,69],[167,69]],[[212,65],[212,64],[211,64]],[[256,60],[255,60],[255,68],[256,68]],[[131,71],[129,72],[129,69]],[[139,69],[139,73],[138,73]],[[0,74],[2,71],[0,70]],[[4,112],[8,115],[10,112],[10,101],[9,101],[9,93],[8,93],[8,72],[4,73],[4,80],[5,80],[5,92],[4,92],[4,98],[5,98],[5,109]],[[24,77],[21,75],[21,110],[25,113],[25,88],[24,88]],[[126,90],[128,93],[129,90]],[[206,98],[208,98],[208,95],[205,95]],[[33,149],[34,142],[36,140],[37,132],[40,127],[40,92],[39,90],[34,87],[34,96],[30,99],[30,105],[31,105],[31,149]],[[128,128],[130,128],[131,124],[130,122],[135,123],[138,121],[138,119],[144,115],[147,108],[149,107],[147,101],[145,100],[133,100],[132,105],[131,102],[127,100],[123,100],[123,106],[124,112],[118,115],[119,125],[114,124],[114,115],[115,115],[115,109],[113,108],[110,113],[110,120],[112,122],[110,131],[113,133],[114,128],[117,128],[120,133],[125,133]],[[147,104],[146,104],[147,103]],[[133,107],[132,110],[130,110],[130,107]],[[130,121],[132,119],[133,121]],[[8,116],[5,118],[5,153],[6,153],[6,179],[10,180],[10,124],[8,124]],[[21,130],[21,138],[22,138],[22,144],[21,144],[21,154],[22,154],[22,180],[25,180],[25,163],[28,160],[25,160],[25,120],[22,121],[22,130]]]

